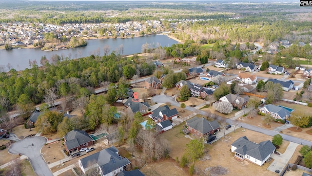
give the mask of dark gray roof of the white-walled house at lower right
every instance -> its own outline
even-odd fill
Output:
[[[263,161],[275,149],[269,140],[256,144],[249,141],[246,136],[238,138],[231,145],[237,148],[234,152],[242,155],[247,154],[260,161]]]

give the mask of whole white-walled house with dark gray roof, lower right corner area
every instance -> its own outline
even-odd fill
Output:
[[[269,140],[257,144],[249,141],[246,136],[238,138],[231,144],[231,152],[234,153],[234,157],[242,160],[248,159],[259,166],[262,166],[269,159],[275,149]]]

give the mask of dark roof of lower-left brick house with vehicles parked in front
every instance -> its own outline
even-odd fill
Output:
[[[72,130],[65,135],[65,144],[68,150],[74,149],[81,144],[93,141],[89,134],[81,130]]]

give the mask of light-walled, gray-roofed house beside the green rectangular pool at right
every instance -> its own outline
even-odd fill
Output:
[[[271,116],[275,119],[281,119],[285,120],[290,117],[291,111],[280,107],[280,106],[275,106],[272,104],[265,105],[264,107],[260,108],[259,111],[264,114],[271,114]]]

